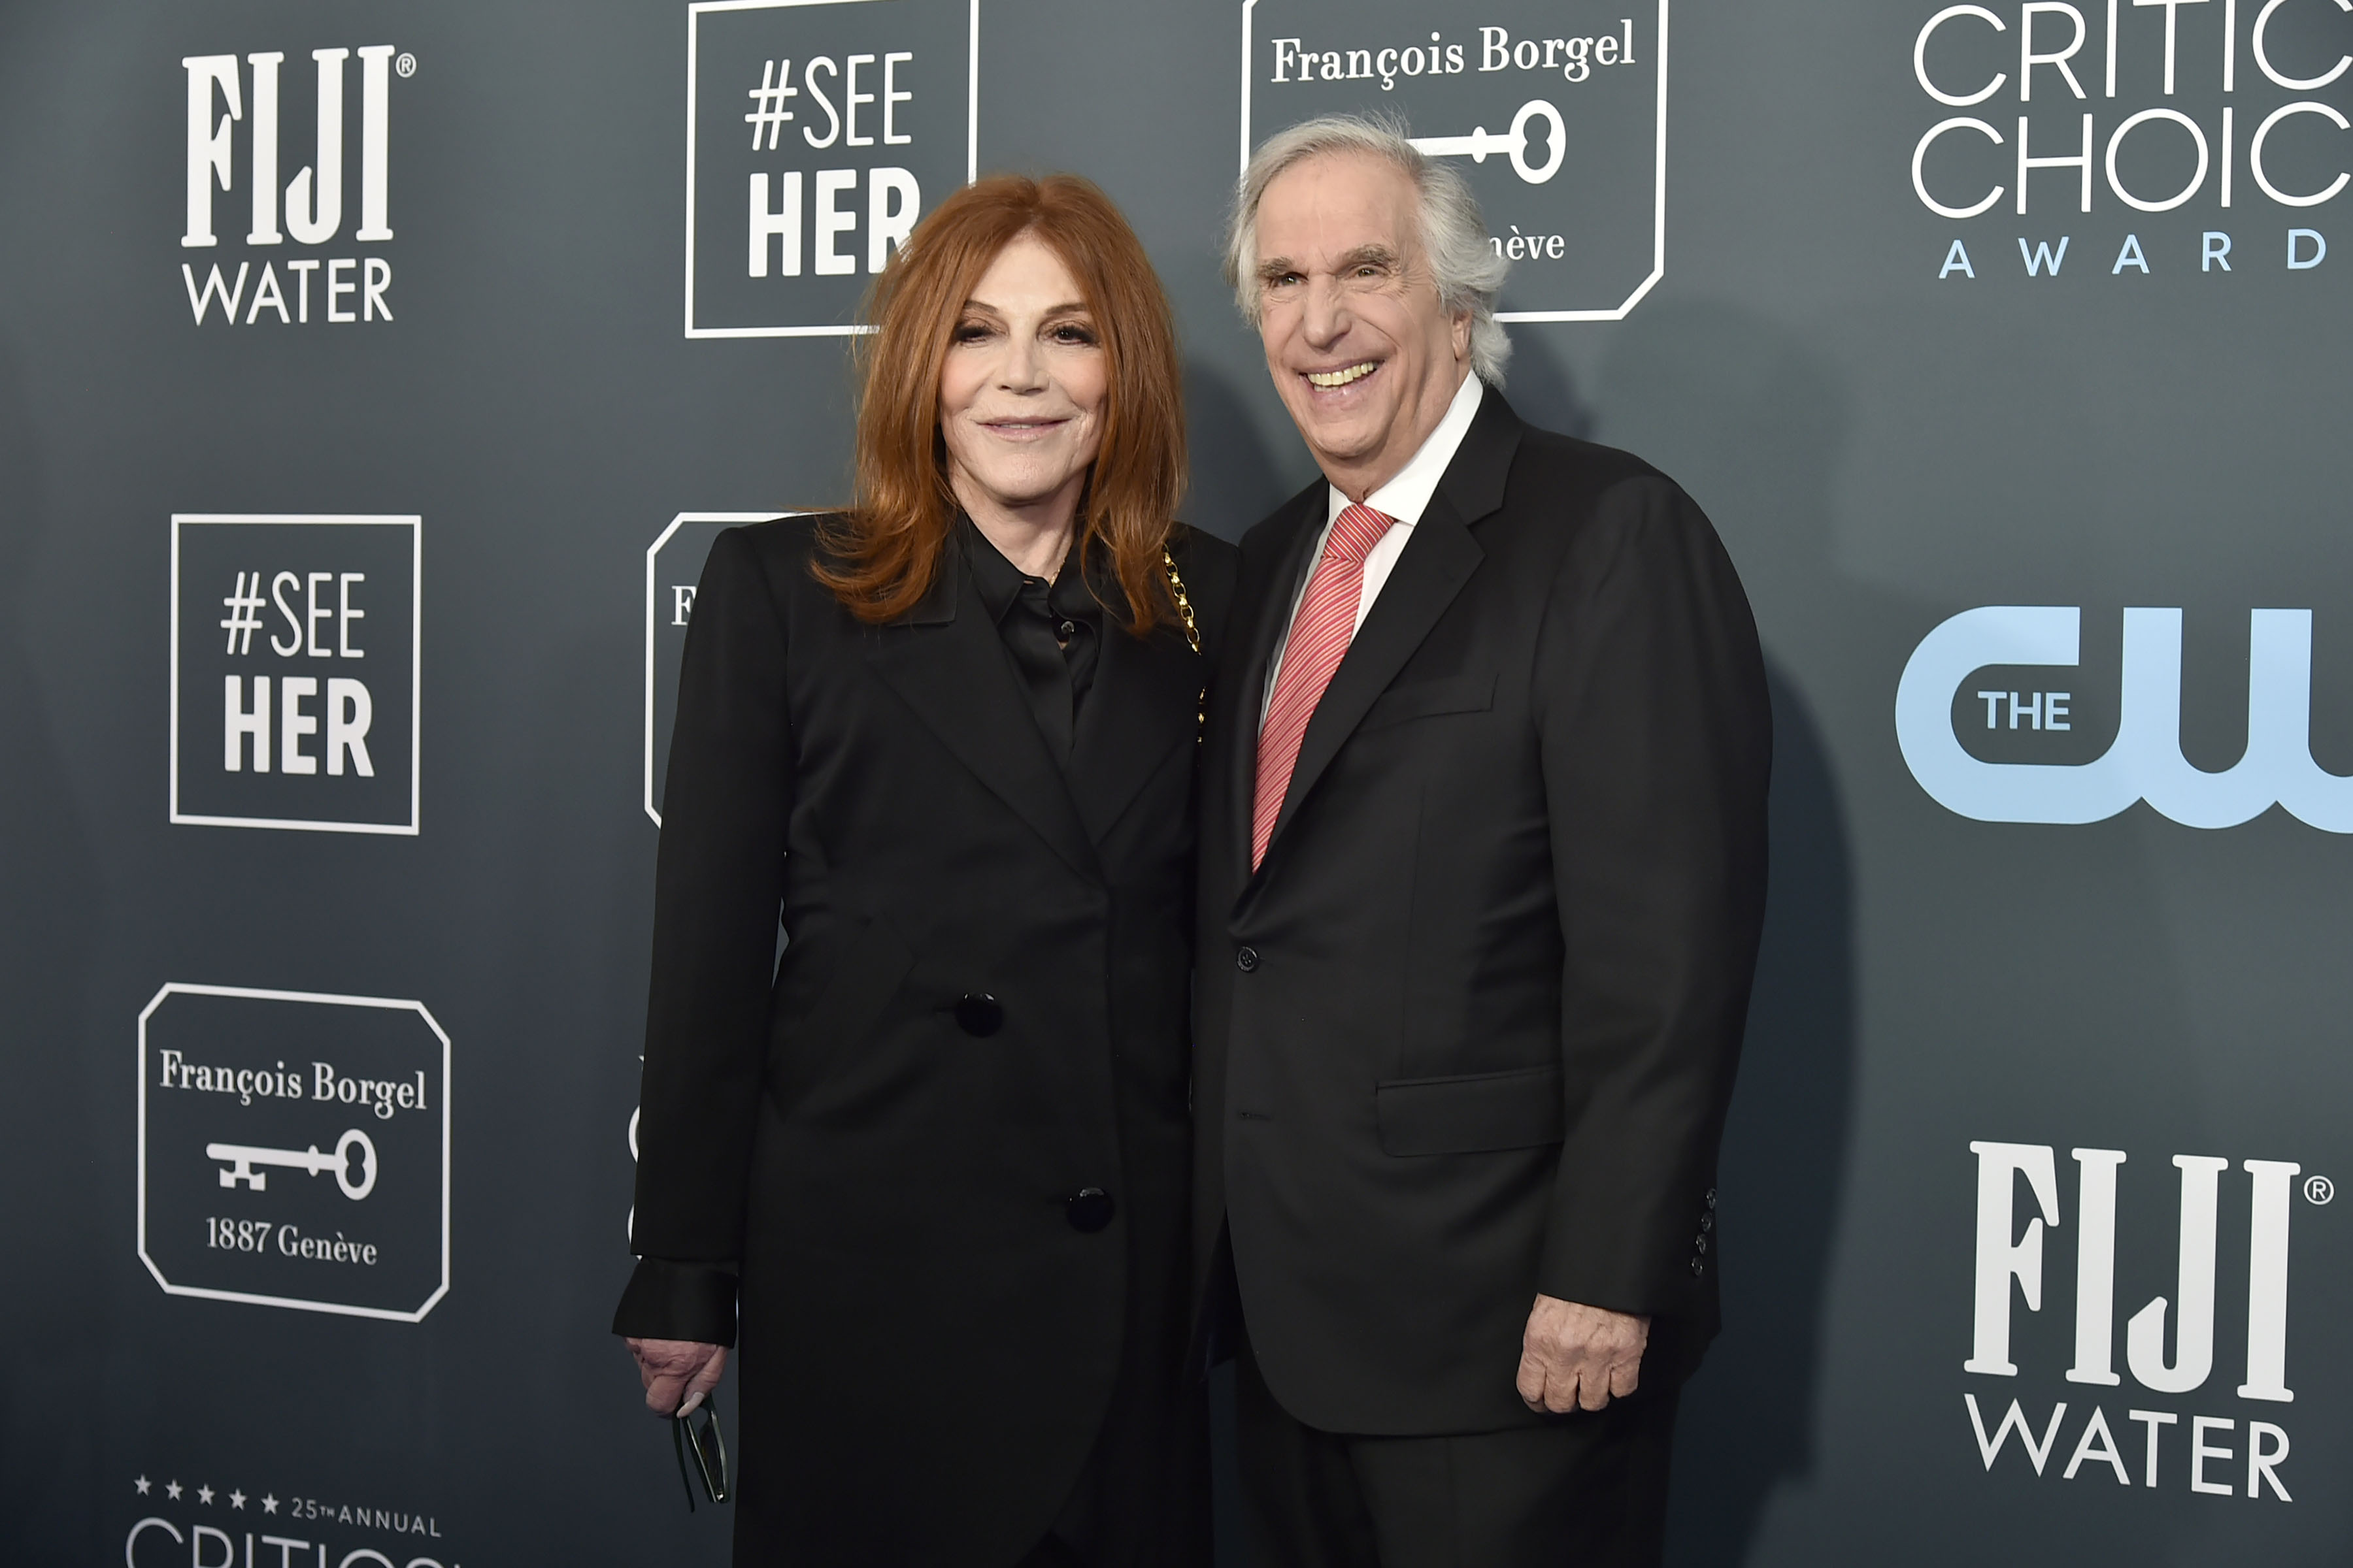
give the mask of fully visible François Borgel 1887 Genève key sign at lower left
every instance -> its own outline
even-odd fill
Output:
[[[414,1324],[449,1291],[449,1037],[421,1001],[165,985],[139,1260],[169,1295]]]

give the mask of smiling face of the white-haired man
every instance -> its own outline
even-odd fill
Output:
[[[1471,317],[1438,303],[1414,181],[1369,153],[1292,165],[1259,197],[1266,369],[1325,475],[1388,482],[1445,418]]]

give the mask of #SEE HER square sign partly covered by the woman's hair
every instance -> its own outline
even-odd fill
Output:
[[[687,336],[856,331],[866,280],[972,179],[981,0],[687,7]]]

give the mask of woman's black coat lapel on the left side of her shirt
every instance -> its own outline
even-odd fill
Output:
[[[1071,788],[1014,684],[1005,644],[988,623],[955,545],[941,555],[932,592],[899,621],[878,628],[866,649],[875,672],[958,762],[1073,870],[1101,875],[1094,842],[1071,804]]]

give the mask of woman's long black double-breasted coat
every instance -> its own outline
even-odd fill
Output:
[[[1066,778],[962,555],[861,625],[814,527],[694,599],[614,1331],[741,1312],[739,1563],[1007,1563],[1122,1366],[1186,1387],[1205,661],[1106,616]],[[1174,548],[1217,637],[1235,550]]]

